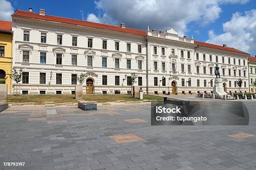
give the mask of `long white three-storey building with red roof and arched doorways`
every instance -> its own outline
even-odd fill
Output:
[[[135,85],[148,93],[210,93],[215,63],[227,92],[238,92],[239,77],[241,91],[248,91],[247,53],[179,37],[173,28],[142,31],[45,10],[16,10],[12,18],[13,67],[23,69],[23,94],[70,94],[81,73],[84,93],[129,93],[133,72]]]

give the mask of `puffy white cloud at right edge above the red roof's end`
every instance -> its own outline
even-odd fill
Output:
[[[243,13],[234,13],[231,20],[223,23],[222,34],[209,31],[209,40],[213,44],[227,44],[248,53],[256,53],[256,9]]]

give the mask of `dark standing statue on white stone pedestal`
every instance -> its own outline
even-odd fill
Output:
[[[223,89],[223,82],[222,79],[220,78],[220,71],[219,71],[219,66],[218,64],[216,64],[216,66],[214,67],[214,74],[216,75],[216,78],[214,80],[214,87],[213,87],[213,94],[216,95],[228,95],[224,89]]]

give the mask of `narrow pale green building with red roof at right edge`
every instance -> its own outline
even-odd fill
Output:
[[[256,87],[253,82],[256,82],[256,56],[248,57],[248,76],[249,76],[249,91],[255,93]]]

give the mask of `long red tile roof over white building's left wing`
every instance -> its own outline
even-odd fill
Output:
[[[51,21],[56,23],[64,23],[64,24],[71,24],[71,25],[79,25],[79,26],[85,26],[85,27],[91,27],[91,28],[98,28],[103,30],[111,30],[111,31],[117,31],[117,32],[124,32],[129,34],[136,34],[136,35],[146,35],[146,31],[142,30],[136,30],[131,28],[121,28],[114,25],[106,25],[106,24],[100,24],[100,23],[92,23],[84,20],[76,20],[76,19],[70,19],[70,18],[63,18],[63,17],[57,17],[52,15],[39,15],[38,13],[23,11],[23,10],[16,10],[15,13],[13,13],[13,16],[22,17],[22,18],[31,18],[31,19],[37,19],[37,20],[45,20],[45,21]]]

